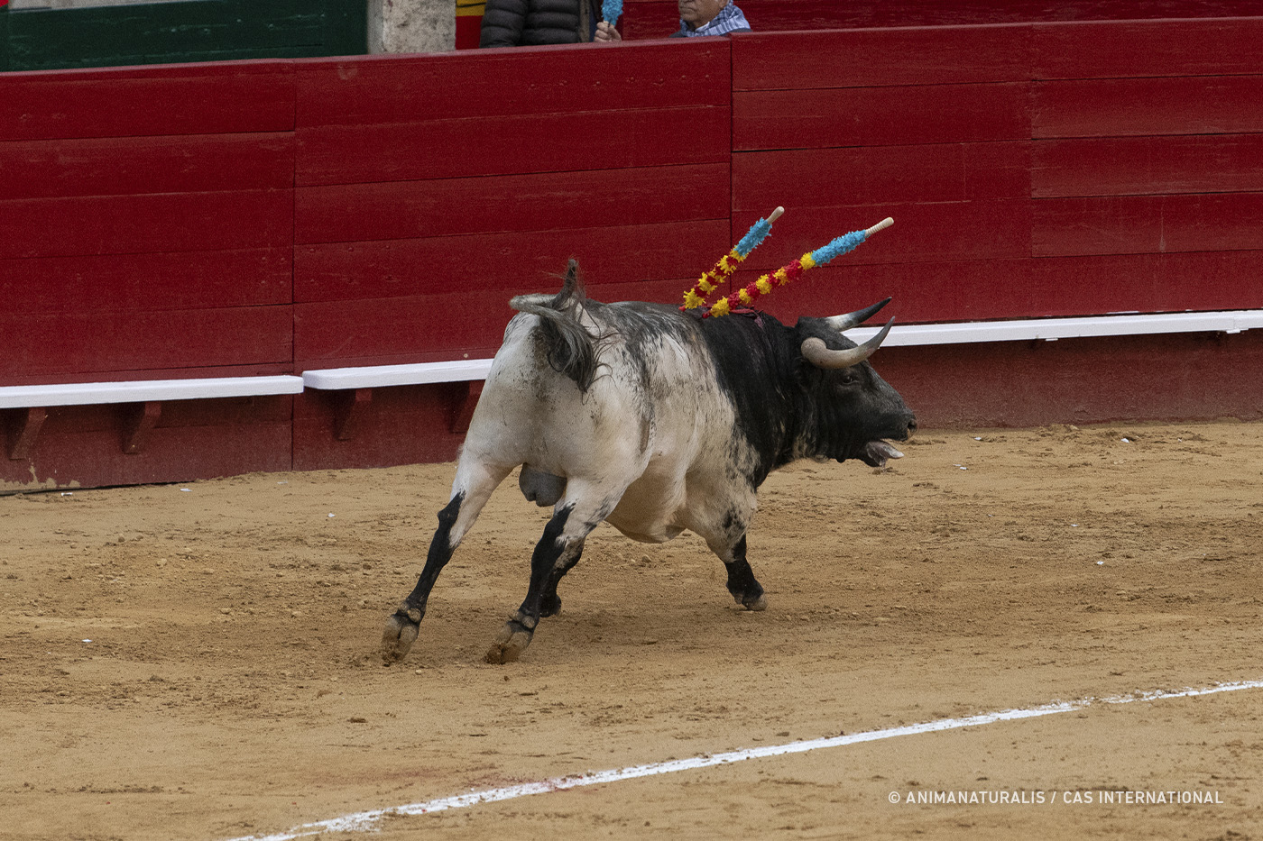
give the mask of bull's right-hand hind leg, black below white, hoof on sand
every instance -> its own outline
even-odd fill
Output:
[[[584,552],[584,539],[604,520],[618,504],[619,495],[597,494],[571,482],[566,499],[561,500],[543,537],[530,556],[530,586],[518,612],[509,617],[491,648],[488,663],[512,663],[530,645],[541,616],[552,616],[561,610],[557,582],[578,563]]]

